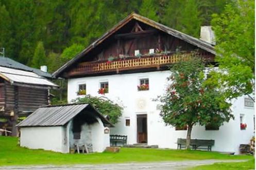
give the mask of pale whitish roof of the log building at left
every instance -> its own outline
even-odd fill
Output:
[[[40,88],[58,88],[59,86],[31,71],[18,70],[0,66],[0,78],[12,85],[34,86]]]

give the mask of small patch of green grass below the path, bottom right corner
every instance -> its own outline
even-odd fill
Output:
[[[189,168],[189,170],[247,170],[247,169],[255,169],[255,160],[251,159],[247,162],[232,162],[232,163],[214,163],[212,165],[201,165]]]

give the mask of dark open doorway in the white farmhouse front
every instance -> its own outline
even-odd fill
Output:
[[[137,115],[137,143],[147,143],[147,115]]]

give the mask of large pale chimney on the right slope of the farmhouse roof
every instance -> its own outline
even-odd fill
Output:
[[[200,40],[215,45],[215,35],[211,26],[201,26]]]

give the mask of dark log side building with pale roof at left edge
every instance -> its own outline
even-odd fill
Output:
[[[48,105],[49,89],[58,88],[50,78],[47,72],[0,57],[0,128],[18,135],[18,119]]]

